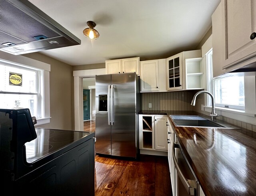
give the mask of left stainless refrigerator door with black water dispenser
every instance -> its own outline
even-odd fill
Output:
[[[111,155],[110,85],[111,75],[96,76],[96,153]]]

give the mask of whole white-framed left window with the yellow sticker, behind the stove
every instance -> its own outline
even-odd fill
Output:
[[[50,64],[0,52],[0,108],[29,108],[37,124],[50,122]]]

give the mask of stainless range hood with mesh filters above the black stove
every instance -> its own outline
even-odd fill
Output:
[[[25,54],[81,44],[28,0],[0,0],[0,50]]]

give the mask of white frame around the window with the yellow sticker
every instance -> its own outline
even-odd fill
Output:
[[[43,70],[41,73],[42,82],[40,83],[40,89],[43,92],[41,94],[41,118],[37,119],[35,126],[50,123],[50,64],[40,62],[25,56],[15,56],[6,52],[0,51],[0,63],[10,66],[30,67]]]

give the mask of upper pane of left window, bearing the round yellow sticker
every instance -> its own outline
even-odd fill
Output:
[[[37,93],[36,74],[36,70],[0,64],[0,91]]]

